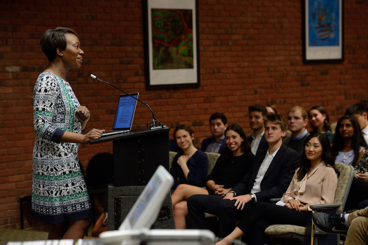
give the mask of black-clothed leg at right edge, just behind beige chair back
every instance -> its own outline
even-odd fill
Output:
[[[349,195],[345,203],[344,210],[356,209],[358,204],[368,199],[368,183],[353,178]]]

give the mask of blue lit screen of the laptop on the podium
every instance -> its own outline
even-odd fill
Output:
[[[132,96],[137,98],[138,94],[134,93]],[[137,100],[133,99],[128,95],[120,97],[119,104],[117,106],[113,129],[121,129],[121,128],[129,129],[131,127],[136,103]]]

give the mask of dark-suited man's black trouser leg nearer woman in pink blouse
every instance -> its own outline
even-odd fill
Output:
[[[246,203],[243,210],[237,209],[236,200],[223,199],[219,203],[217,213],[219,215],[219,237],[227,237],[235,229],[235,219],[241,219],[253,207],[254,203]]]

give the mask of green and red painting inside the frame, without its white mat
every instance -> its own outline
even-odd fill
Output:
[[[153,70],[193,68],[192,10],[152,8]]]

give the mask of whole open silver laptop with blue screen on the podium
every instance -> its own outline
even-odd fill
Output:
[[[139,93],[130,93],[130,95],[138,99]],[[119,103],[117,104],[113,130],[104,132],[102,137],[121,134],[131,130],[135,107],[137,106],[137,100],[134,98],[127,94],[120,95]]]

